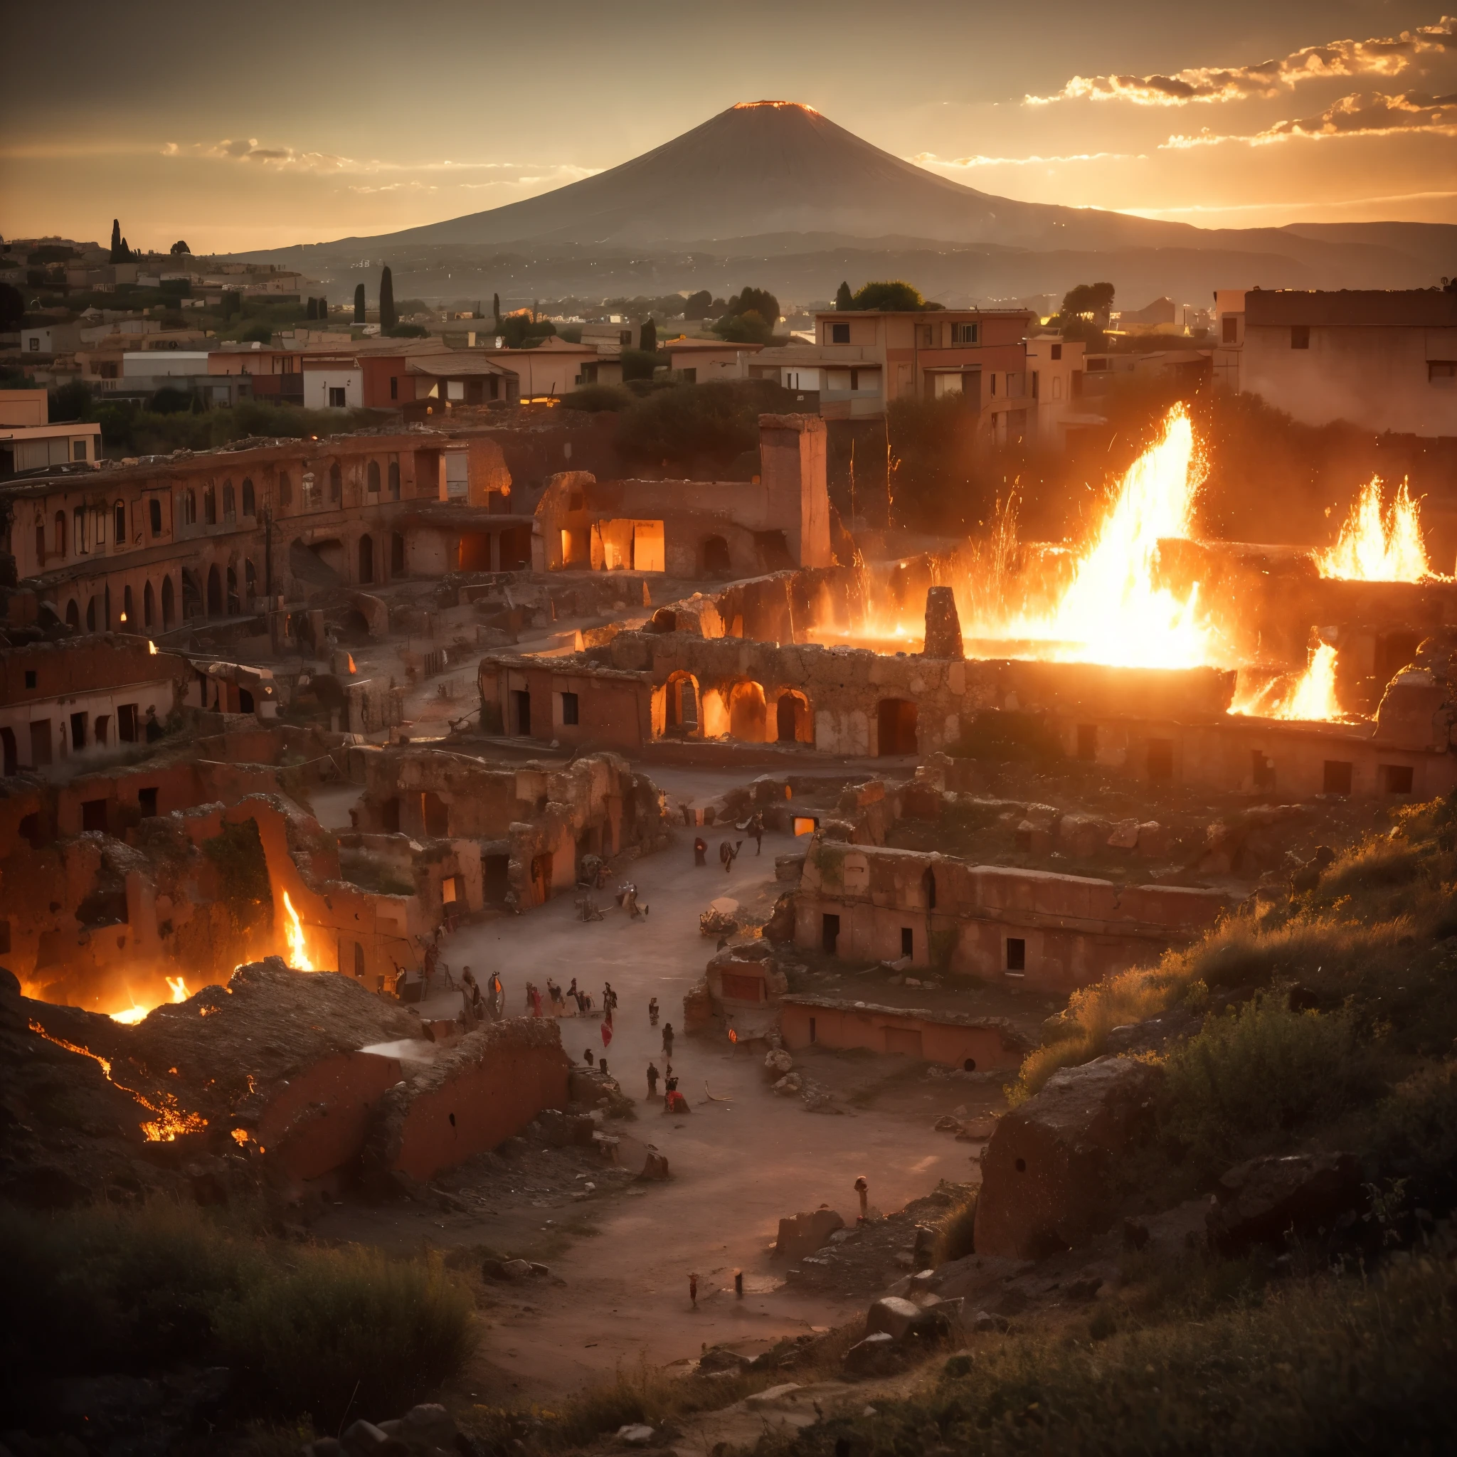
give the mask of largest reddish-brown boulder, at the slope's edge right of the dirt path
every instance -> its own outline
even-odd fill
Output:
[[[1106,1228],[1113,1167],[1152,1125],[1161,1071],[1097,1058],[1055,1072],[982,1150],[976,1253],[1040,1259]]]

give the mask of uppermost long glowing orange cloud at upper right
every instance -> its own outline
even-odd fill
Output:
[[[1259,66],[1192,66],[1173,76],[1074,76],[1053,96],[1027,96],[1026,103],[1055,101],[1129,101],[1138,106],[1186,106],[1190,102],[1249,101],[1278,96],[1301,82],[1333,76],[1397,76],[1419,55],[1457,51],[1457,16],[1400,35],[1370,41],[1307,45]]]

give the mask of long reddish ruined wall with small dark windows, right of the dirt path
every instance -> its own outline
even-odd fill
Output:
[[[909,954],[912,966],[1014,975],[1067,992],[1193,940],[1227,906],[1218,892],[969,865],[816,835],[794,944],[847,960]]]

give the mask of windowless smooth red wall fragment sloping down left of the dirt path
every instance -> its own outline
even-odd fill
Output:
[[[570,1068],[554,1018],[472,1032],[385,1094],[369,1163],[424,1180],[498,1148],[542,1109],[565,1109]]]

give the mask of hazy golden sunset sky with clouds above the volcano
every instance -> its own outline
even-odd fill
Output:
[[[1457,17],[1405,0],[70,0],[4,34],[7,237],[395,232],[765,98],[1033,203],[1457,223]]]

